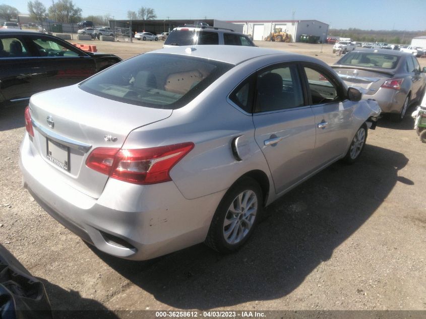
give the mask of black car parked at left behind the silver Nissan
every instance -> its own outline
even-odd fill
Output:
[[[34,93],[81,82],[119,61],[52,35],[0,29],[0,107],[28,103]]]

